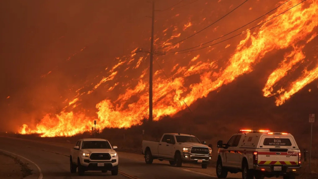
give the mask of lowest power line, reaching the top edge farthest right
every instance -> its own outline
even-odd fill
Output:
[[[232,39],[232,38],[234,38],[234,37],[237,37],[237,36],[239,36],[239,35],[241,35],[241,34],[243,34],[243,33],[246,33],[247,31],[250,31],[250,30],[252,30],[252,29],[254,29],[254,28],[256,28],[256,27],[258,27],[258,26],[260,26],[260,25],[262,25],[262,24],[264,24],[264,23],[266,23],[266,22],[268,22],[268,21],[270,21],[270,20],[272,20],[272,19],[278,17],[279,15],[281,15],[281,14],[287,12],[288,10],[290,10],[290,9],[292,9],[292,8],[294,8],[294,7],[296,7],[297,5],[299,5],[299,4],[301,4],[301,3],[305,2],[305,1],[306,1],[306,0],[303,0],[303,1],[301,1],[300,3],[294,5],[293,7],[291,7],[291,8],[289,8],[289,9],[285,10],[284,12],[282,12],[282,13],[280,13],[280,14],[278,14],[278,15],[276,15],[276,16],[274,16],[274,17],[272,17],[272,18],[270,18],[270,19],[268,19],[268,20],[266,20],[266,21],[264,21],[264,22],[262,22],[262,23],[256,25],[256,26],[254,26],[254,27],[252,27],[252,28],[250,28],[250,29],[247,29],[247,30],[245,30],[245,31],[243,31],[243,32],[241,32],[241,33],[239,33],[239,34],[237,34],[237,35],[234,35],[234,36],[232,36],[232,37],[230,37],[230,38],[227,38],[227,39],[225,39],[225,40],[222,40],[222,41],[220,41],[220,42],[217,42],[217,43],[214,43],[214,44],[211,44],[211,45],[209,45],[209,46],[202,47],[202,48],[198,48],[198,49],[195,49],[195,50],[190,50],[190,51],[182,52],[182,51],[187,50],[187,49],[185,49],[185,50],[180,50],[180,51],[175,51],[175,52],[167,52],[167,54],[188,53],[188,52],[193,52],[193,51],[205,49],[205,48],[211,47],[211,46],[213,46],[213,45],[217,45],[217,44],[219,44],[219,43],[222,43],[222,42],[224,42],[224,41],[230,40],[230,39]],[[221,37],[223,37],[223,36],[221,36]],[[221,37],[219,37],[219,38],[221,38]],[[217,39],[219,39],[219,38],[217,38]],[[215,39],[215,40],[217,40],[217,39]],[[212,41],[210,41],[210,42],[213,42],[213,41],[215,41],[215,40],[212,40]],[[207,42],[207,43],[210,43],[210,42]],[[205,43],[205,44],[207,44],[207,43]],[[201,46],[201,45],[200,45],[200,46]],[[198,46],[198,47],[200,47],[200,46]],[[189,49],[192,49],[192,48],[189,48]],[[178,53],[178,52],[181,52],[181,53]]]

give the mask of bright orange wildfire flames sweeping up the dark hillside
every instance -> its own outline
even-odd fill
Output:
[[[222,3],[221,0],[219,2]],[[285,5],[280,6],[273,14],[263,19],[263,22],[299,2],[301,1],[289,1]],[[235,49],[228,61],[224,63],[225,65],[218,63],[219,58],[216,57],[203,59],[203,55],[209,55],[214,48],[208,48],[206,51],[197,51],[195,52],[196,54],[185,55],[184,59],[182,59],[186,61],[186,63],[184,62],[185,65],[175,61],[175,57],[170,58],[170,61],[172,61],[171,68],[165,70],[165,72],[171,73],[173,76],[172,81],[159,71],[156,73],[156,79],[154,78],[154,120],[159,120],[162,115],[173,115],[181,111],[182,108],[185,109],[185,103],[189,106],[197,99],[207,96],[209,92],[233,82],[239,76],[251,73],[253,67],[262,62],[265,55],[279,50],[287,52],[283,59],[275,59],[280,60],[281,63],[270,73],[262,91],[264,97],[276,97],[277,106],[284,104],[296,92],[318,79],[318,64],[311,63],[315,67],[309,68],[310,64],[307,61],[305,62],[305,59],[311,57],[305,56],[304,53],[306,44],[317,39],[317,32],[315,32],[315,28],[318,26],[317,12],[318,0],[307,0],[306,3],[295,6],[279,17],[262,24],[258,30],[254,32],[248,31],[241,36],[242,40],[239,41],[238,45],[235,45],[235,43],[224,44],[222,46],[223,50],[231,50],[232,47]],[[179,17],[179,15],[174,16]],[[205,20],[206,18],[203,19],[203,21],[207,21]],[[156,39],[157,47],[171,45],[173,39],[181,39],[181,32],[182,34],[186,33],[183,30],[190,26],[194,28],[195,24],[194,22],[185,22],[180,24],[180,28],[175,25],[169,25],[168,28],[164,27],[163,30],[158,32],[162,33],[162,39]],[[217,30],[218,27],[211,28],[211,33]],[[170,36],[167,35],[169,33]],[[157,35],[157,37],[160,37],[160,35]],[[165,50],[176,49],[181,45],[183,44],[171,45]],[[229,48],[230,45],[231,48]],[[43,137],[72,136],[83,131],[89,131],[93,125],[93,120],[98,121],[96,128],[99,129],[105,127],[130,127],[134,124],[139,124],[142,117],[149,112],[147,82],[149,69],[140,70],[141,73],[139,72],[136,77],[131,78],[131,83],[114,82],[116,78],[124,78],[119,77],[121,71],[137,70],[146,61],[146,55],[138,57],[137,49],[132,51],[130,59],[127,59],[128,57],[117,58],[120,61],[111,68],[108,72],[108,77],[102,78],[86,93],[80,93],[79,91],[84,89],[79,89],[77,92],[80,95],[74,97],[68,103],[69,105],[77,103],[82,94],[90,95],[104,83],[112,83],[106,89],[108,92],[115,91],[115,88],[117,90],[117,88],[127,87],[123,93],[116,96],[115,100],[107,98],[98,102],[95,105],[97,117],[88,117],[82,112],[75,113],[63,110],[57,115],[45,115],[35,126],[36,129],[30,129],[26,124],[23,124],[19,133],[39,133]],[[136,62],[133,57],[139,60],[136,60]],[[168,60],[165,61],[167,57],[163,58],[158,61],[161,64],[168,63]],[[314,60],[317,61],[317,57]],[[135,65],[133,65],[134,63]],[[306,66],[306,68],[302,70],[297,79],[289,80],[288,83],[282,82],[282,79],[292,74],[295,69],[301,68],[301,64]],[[133,68],[129,68],[127,65]],[[185,85],[186,78],[192,75],[199,75],[199,82],[187,87]],[[125,78],[128,77],[127,75],[124,76]],[[136,83],[135,86],[131,86],[133,82]],[[136,98],[136,96],[138,97]]]

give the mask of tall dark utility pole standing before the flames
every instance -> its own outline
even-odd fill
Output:
[[[153,15],[150,44],[150,73],[149,73],[149,121],[153,121],[153,58],[154,58],[154,27],[155,27],[155,0],[153,0]]]

